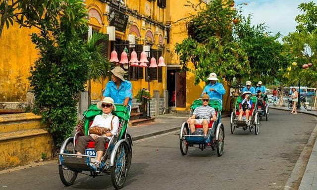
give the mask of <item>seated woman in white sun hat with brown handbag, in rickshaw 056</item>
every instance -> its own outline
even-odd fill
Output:
[[[105,145],[113,135],[116,135],[119,128],[119,118],[117,116],[112,115],[112,110],[115,110],[115,105],[113,99],[111,97],[105,97],[103,101],[97,103],[97,107],[103,110],[103,114],[96,115],[93,123],[89,127],[89,135],[81,136],[78,138],[78,142],[76,144],[77,154],[81,155],[85,152],[86,146],[88,142],[95,142],[95,150],[97,152],[96,161],[93,162],[95,165],[100,164],[100,160],[105,152]],[[94,130],[94,127],[96,130]],[[102,129],[104,128],[104,129]],[[100,134],[94,134],[93,132],[98,130],[102,130]],[[91,133],[92,132],[92,133]]]

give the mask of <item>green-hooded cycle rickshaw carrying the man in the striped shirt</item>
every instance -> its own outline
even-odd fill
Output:
[[[194,109],[203,104],[202,99],[199,98],[191,105],[190,115],[192,115]],[[216,111],[216,121],[211,121],[208,126],[208,134],[206,135],[192,135],[189,129],[189,124],[185,121],[182,124],[179,136],[179,145],[182,155],[186,155],[188,147],[196,147],[204,150],[211,147],[212,150],[217,150],[217,155],[221,156],[223,153],[224,145],[224,127],[221,123],[221,110],[222,101],[220,99],[210,99],[209,105]],[[196,131],[202,131],[202,125],[195,125]]]

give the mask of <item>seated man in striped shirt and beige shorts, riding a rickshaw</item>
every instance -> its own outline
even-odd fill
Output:
[[[202,101],[203,105],[196,107],[193,111],[193,115],[187,119],[187,123],[189,123],[189,128],[193,135],[198,135],[195,129],[195,124],[203,125],[204,134],[207,135],[208,124],[210,121],[216,121],[217,119],[215,109],[208,105],[209,95],[203,95]]]

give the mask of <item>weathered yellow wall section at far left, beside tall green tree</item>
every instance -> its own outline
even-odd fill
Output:
[[[3,28],[0,36],[0,101],[26,101],[29,89],[30,66],[37,50],[30,34],[35,29],[19,28],[14,23]]]

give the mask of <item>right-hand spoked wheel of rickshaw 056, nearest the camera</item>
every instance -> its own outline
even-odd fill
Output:
[[[121,142],[116,154],[114,155],[113,166],[110,168],[112,185],[117,190],[124,186],[124,183],[127,179],[130,159],[129,157],[128,143]]]

